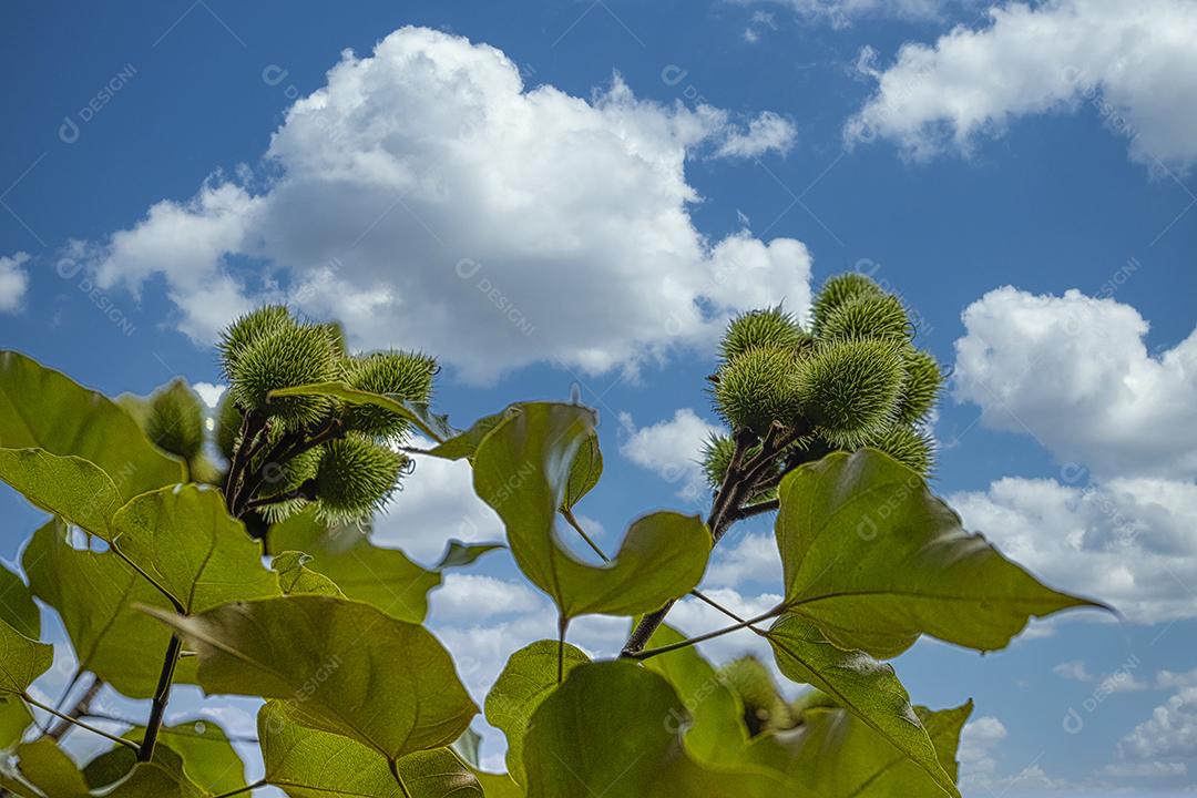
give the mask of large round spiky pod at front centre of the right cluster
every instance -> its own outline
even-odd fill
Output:
[[[904,377],[899,347],[849,339],[820,346],[794,383],[818,433],[856,447],[893,425]]]

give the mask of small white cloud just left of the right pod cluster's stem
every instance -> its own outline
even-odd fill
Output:
[[[703,444],[722,432],[719,427],[685,407],[675,412],[673,419],[639,430],[627,413],[620,415],[620,424],[631,432],[619,447],[624,457],[679,486],[678,494],[686,499],[697,500],[705,494]]]

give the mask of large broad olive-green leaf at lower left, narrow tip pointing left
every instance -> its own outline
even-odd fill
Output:
[[[427,629],[358,602],[284,596],[199,615],[147,613],[196,652],[206,693],[293,698],[304,725],[388,759],[448,745],[478,713]]]

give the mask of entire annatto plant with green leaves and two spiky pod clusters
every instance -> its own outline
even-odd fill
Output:
[[[730,432],[706,445],[710,514],[646,514],[610,556],[573,513],[602,471],[593,410],[517,403],[455,431],[429,410],[432,358],[351,354],[336,325],[285,307],[237,321],[219,349],[230,389],[211,440],[186,383],[110,401],[0,355],[0,479],[50,513],[22,558],[28,586],[0,573],[11,794],[958,796],[971,703],[912,706],[885,660],[920,635],[1002,648],[1031,616],[1095,605],[1039,584],[931,495],[923,421],[941,372],[903,304],[858,274],[824,286],[809,328],[780,307],[730,323],[711,377]],[[431,447],[412,447],[417,431]],[[486,696],[506,774],[478,769],[479,707],[421,626],[442,572],[494,547],[452,543],[430,569],[359,531],[412,457],[472,464],[516,564],[558,609],[559,638],[514,652]],[[697,587],[728,529],[762,513],[776,513],[784,597],[741,617]],[[668,626],[687,595],[727,628]],[[54,654],[34,598],[95,680],[73,709],[31,690]],[[622,651],[591,659],[566,642],[588,614],[632,620]],[[694,648],[743,628],[809,686],[797,702],[764,663],[717,670]],[[245,784],[214,724],[163,724],[174,683],[266,700],[261,781]],[[96,727],[103,686],[150,699],[144,721]],[[31,708],[53,723],[35,727]],[[74,729],[111,749],[80,769],[60,748]]]

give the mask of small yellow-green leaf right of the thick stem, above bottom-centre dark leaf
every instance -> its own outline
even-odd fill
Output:
[[[685,639],[686,635],[663,623],[652,633],[646,647],[656,648]],[[688,646],[658,654],[644,660],[644,666],[663,676],[691,711],[693,723],[683,738],[686,750],[695,760],[707,765],[740,761],[740,751],[748,742],[743,703],[698,648]]]

